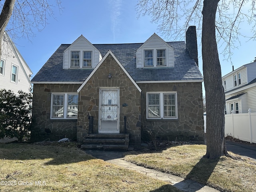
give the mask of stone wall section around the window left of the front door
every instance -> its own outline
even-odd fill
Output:
[[[50,119],[51,93],[76,92],[79,84],[34,84],[31,140],[76,140],[76,119]]]

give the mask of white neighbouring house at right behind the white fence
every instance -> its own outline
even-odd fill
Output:
[[[225,114],[256,112],[256,60],[222,77]]]

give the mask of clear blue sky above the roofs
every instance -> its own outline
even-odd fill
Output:
[[[138,17],[135,10],[137,0],[63,0],[63,10],[54,8],[54,17],[48,18],[48,24],[42,32],[28,39],[14,39],[16,47],[34,73],[40,70],[60,44],[71,44],[81,34],[92,44],[141,43],[153,33],[158,34],[158,24],[152,24],[149,16]],[[242,26],[242,25],[241,25]],[[244,24],[243,30],[249,31]],[[184,39],[180,39],[185,41]],[[232,50],[234,68],[248,64],[256,57],[255,41],[246,42],[240,38],[238,49]],[[199,45],[200,39],[198,39]],[[219,53],[221,49],[219,49]],[[202,72],[201,47],[198,47],[199,68]],[[220,55],[222,76],[232,71],[230,62]]]

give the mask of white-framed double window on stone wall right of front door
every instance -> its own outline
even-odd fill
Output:
[[[177,119],[176,92],[147,92],[147,119]]]

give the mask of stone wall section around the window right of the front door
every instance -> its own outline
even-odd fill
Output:
[[[138,84],[142,89],[142,139],[149,139],[148,131],[153,131],[162,140],[186,140],[204,142],[204,119],[202,83],[159,83]],[[147,120],[146,92],[177,92],[178,120]]]

